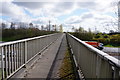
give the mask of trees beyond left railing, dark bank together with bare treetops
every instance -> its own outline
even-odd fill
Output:
[[[13,22],[11,22],[9,27],[6,27],[6,24],[2,23],[0,29],[2,29],[2,41],[14,41],[59,32],[56,29],[44,30],[42,28],[42,30],[40,30],[38,26],[34,26],[33,23],[29,23],[28,25],[22,23],[17,25],[17,28]]]

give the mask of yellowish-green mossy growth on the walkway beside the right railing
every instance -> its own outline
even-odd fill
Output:
[[[75,80],[75,74],[69,50],[66,51],[62,65],[59,69],[59,77],[62,80]]]

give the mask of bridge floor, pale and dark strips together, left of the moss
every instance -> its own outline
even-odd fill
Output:
[[[62,46],[62,49],[60,49],[60,46]],[[66,47],[65,35],[63,35],[41,53],[36,63],[26,73],[24,73],[24,75],[22,75],[22,78],[56,78]],[[62,53],[61,56],[59,55],[59,50]],[[59,58],[57,58],[57,56],[59,56]],[[56,59],[57,63],[55,62]],[[58,67],[56,67],[56,65]],[[52,70],[53,68],[54,70]],[[18,74],[18,76],[15,76],[14,78],[21,78],[21,74]]]

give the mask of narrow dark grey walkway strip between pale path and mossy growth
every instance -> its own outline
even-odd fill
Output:
[[[58,79],[59,78],[59,69],[61,68],[61,64],[64,59],[66,50],[67,50],[67,41],[66,41],[66,36],[64,36],[62,43],[60,45],[59,51],[54,59],[51,69],[49,71],[48,79],[56,79],[56,78]]]

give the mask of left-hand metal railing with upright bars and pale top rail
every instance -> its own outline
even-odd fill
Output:
[[[0,44],[2,79],[10,78],[62,34],[55,33]]]

